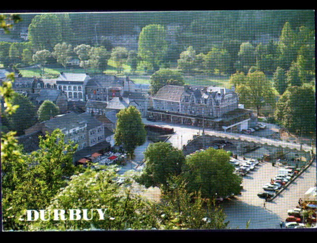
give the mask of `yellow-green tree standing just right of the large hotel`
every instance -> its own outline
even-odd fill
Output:
[[[274,106],[274,91],[263,72],[248,73],[246,82],[238,85],[235,90],[239,94],[239,101],[249,107],[255,107],[258,114],[265,104]]]

